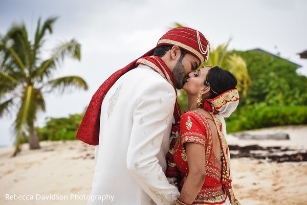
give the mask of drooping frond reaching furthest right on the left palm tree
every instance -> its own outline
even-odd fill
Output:
[[[45,85],[46,88],[50,88],[49,92],[59,91],[61,93],[70,92],[71,88],[82,88],[86,90],[86,82],[78,76],[66,76],[50,80]]]

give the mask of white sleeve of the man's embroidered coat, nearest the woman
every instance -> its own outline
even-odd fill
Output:
[[[143,89],[133,115],[127,152],[130,174],[158,205],[174,204],[180,194],[176,187],[168,183],[156,156],[164,132],[171,126],[175,100],[174,89],[166,81]]]

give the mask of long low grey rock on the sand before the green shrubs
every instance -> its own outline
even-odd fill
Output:
[[[250,133],[231,133],[239,139],[245,140],[290,140],[287,133],[274,133],[274,134],[250,134]]]

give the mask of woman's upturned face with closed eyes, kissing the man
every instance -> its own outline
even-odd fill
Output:
[[[183,85],[183,89],[187,94],[197,95],[202,89],[208,87],[204,85],[206,76],[211,67],[203,67],[199,72],[189,73],[189,78]]]

